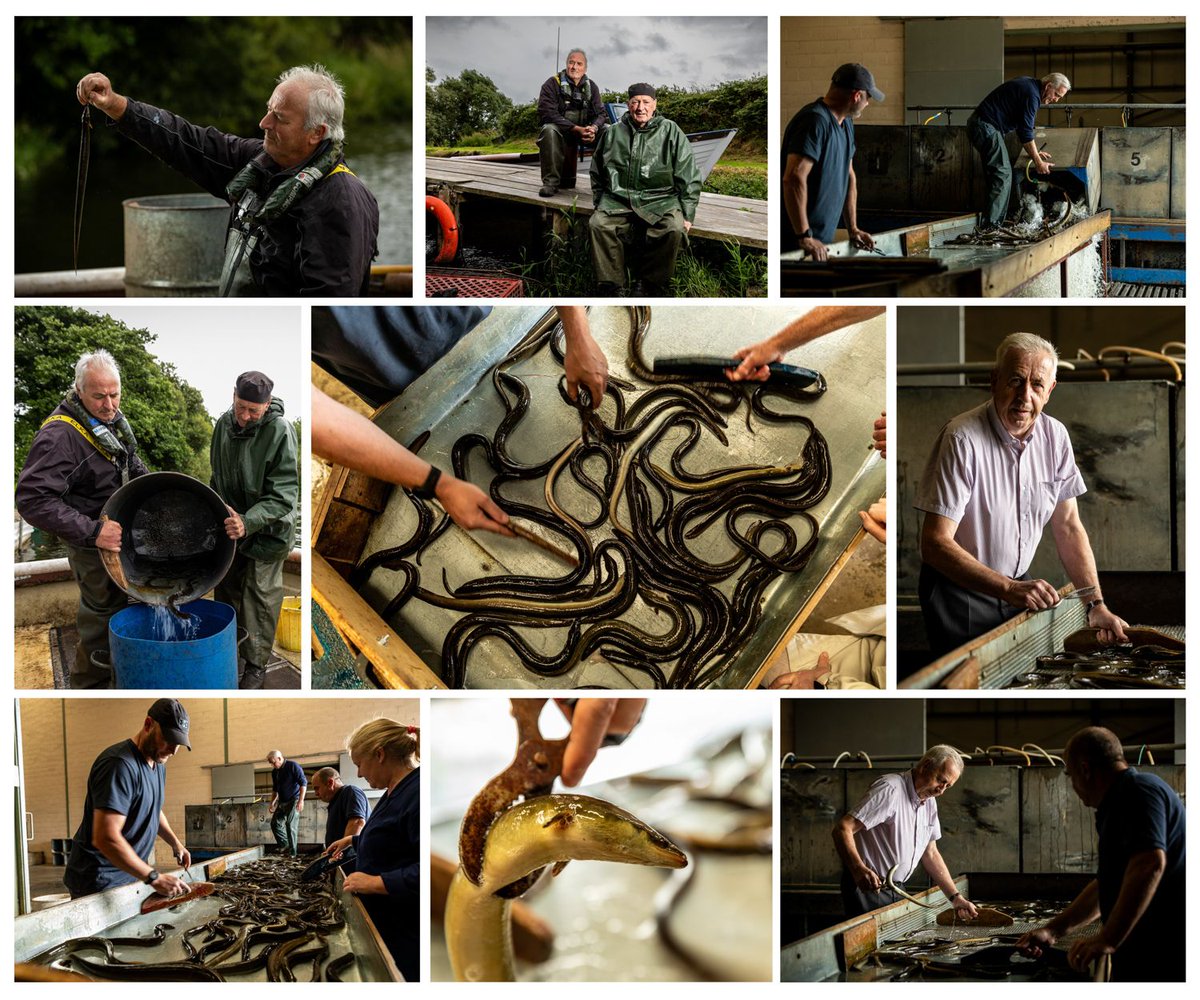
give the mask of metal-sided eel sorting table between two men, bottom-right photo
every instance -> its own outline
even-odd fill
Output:
[[[978,939],[1014,939],[1027,930],[1045,924],[1050,916],[1064,908],[1090,881],[1090,875],[1030,875],[1010,873],[985,873],[959,875],[955,887],[973,903],[980,906],[995,905],[991,899],[1004,899],[1000,909],[1014,917],[1008,927],[962,927],[937,924],[937,915],[949,909],[949,903],[938,888],[914,892],[912,896],[923,903],[932,903],[936,909],[926,909],[916,903],[901,899],[878,910],[862,916],[851,917],[841,923],[786,945],[780,954],[780,978],[784,982],[889,982],[911,974],[913,963],[904,957],[888,960],[889,952],[901,952],[904,945],[934,945],[923,953],[938,963],[938,972],[930,978],[946,980],[953,966],[973,952],[988,947],[990,941]],[[1061,903],[1061,906],[1058,905]],[[1020,908],[1020,909],[1018,909]],[[1028,915],[1026,915],[1028,914]],[[1022,918],[1024,917],[1024,918]],[[1069,948],[1079,938],[1093,933],[1099,924],[1081,928],[1070,935],[1061,938],[1056,950]],[[846,969],[844,948],[847,941],[871,942],[864,946],[864,959]],[[962,942],[962,944],[958,944]],[[874,957],[877,954],[877,958]],[[1007,982],[1022,982],[1040,978],[1046,966],[1043,963],[1027,959],[1014,959],[1013,971]],[[1081,977],[1067,971],[1055,971],[1057,980],[1079,981]],[[972,975],[968,965],[962,966],[961,980],[983,978]],[[988,980],[996,978],[988,976]],[[929,981],[926,978],[925,981]]]

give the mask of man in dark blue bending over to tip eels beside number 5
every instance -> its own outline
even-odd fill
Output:
[[[995,229],[1008,215],[1013,190],[1013,167],[1008,162],[1004,136],[1016,138],[1039,174],[1049,174],[1054,161],[1038,149],[1033,121],[1042,104],[1054,104],[1067,96],[1070,80],[1062,73],[1048,73],[1042,79],[1018,77],[991,91],[967,119],[967,138],[983,160],[986,203],[979,212],[979,232]]]

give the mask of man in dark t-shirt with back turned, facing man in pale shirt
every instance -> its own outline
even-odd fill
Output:
[[[1087,974],[1111,956],[1114,981],[1183,982],[1187,828],[1180,796],[1157,774],[1129,767],[1121,741],[1100,726],[1076,732],[1066,759],[1075,794],[1096,809],[1096,879],[1018,945],[1038,957],[1099,918],[1098,933],[1070,946],[1076,971]]]

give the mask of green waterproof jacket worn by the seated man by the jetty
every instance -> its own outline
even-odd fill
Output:
[[[672,209],[682,209],[692,222],[700,185],[691,143],[668,118],[655,115],[637,128],[626,112],[605,128],[592,156],[592,199],[601,211],[632,209],[654,223]]]

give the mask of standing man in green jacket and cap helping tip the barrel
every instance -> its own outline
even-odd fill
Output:
[[[283,563],[300,516],[295,430],[272,388],[259,371],[238,376],[233,406],[212,429],[209,453],[212,489],[229,510],[226,534],[238,543],[214,597],[233,606],[248,633],[240,647],[244,689],[263,687],[266,676],[283,604]]]

